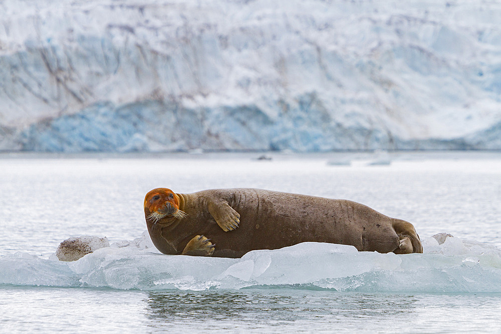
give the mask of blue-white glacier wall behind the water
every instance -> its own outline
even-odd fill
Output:
[[[3,0],[0,150],[501,149],[501,3]]]

